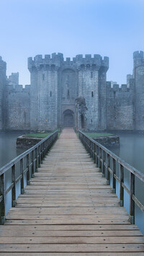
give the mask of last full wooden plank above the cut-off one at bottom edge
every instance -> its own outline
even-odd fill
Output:
[[[143,252],[143,244],[0,244],[0,252]]]

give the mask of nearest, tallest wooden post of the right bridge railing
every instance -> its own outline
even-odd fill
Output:
[[[135,195],[135,175],[130,172],[130,222],[135,224],[135,202],[132,195]]]

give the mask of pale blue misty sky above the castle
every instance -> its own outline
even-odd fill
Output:
[[[108,56],[107,80],[125,84],[135,50],[144,50],[144,0],[0,0],[0,56],[19,84],[30,84],[28,57],[58,52]]]

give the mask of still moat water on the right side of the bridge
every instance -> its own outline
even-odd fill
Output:
[[[109,150],[120,156],[121,159],[125,160],[128,164],[132,165],[140,172],[144,173],[144,134],[140,132],[123,132],[123,131],[111,131],[120,136],[120,149],[115,146],[110,146]],[[130,174],[127,170],[124,170],[124,182],[127,187],[130,187]],[[119,177],[119,169],[117,167],[117,176]],[[118,183],[118,182],[117,182]],[[119,196],[119,185],[117,184],[117,195]],[[144,184],[137,178],[135,178],[135,195],[140,200],[140,203],[144,205]],[[125,203],[124,206],[129,213],[129,199],[130,196],[125,192]],[[135,224],[138,225],[139,229],[144,234],[144,213],[140,211],[138,206],[135,206]]]

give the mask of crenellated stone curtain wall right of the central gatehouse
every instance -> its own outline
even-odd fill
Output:
[[[134,129],[134,91],[133,81],[130,88],[126,84],[122,84],[120,88],[118,84],[107,82],[107,129],[112,130],[133,130]]]

